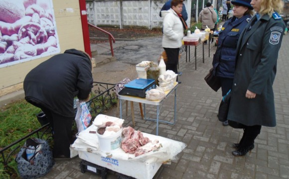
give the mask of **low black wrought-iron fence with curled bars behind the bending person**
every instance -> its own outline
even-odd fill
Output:
[[[92,115],[92,119],[98,114],[104,113],[112,106],[117,105],[117,95],[114,90],[115,84],[107,84],[102,82],[93,82],[92,97],[87,102],[88,108]],[[36,117],[36,116],[35,116]],[[50,130],[49,130],[50,129]],[[13,157],[19,152],[19,148],[23,146],[25,139],[29,137],[36,137],[42,139],[45,133],[50,133],[46,140],[52,139],[52,130],[50,123],[43,125],[42,127],[32,131],[28,135],[13,142],[12,144],[0,149],[0,163],[3,165],[5,173],[12,175],[13,168],[9,167],[9,163],[12,162]]]

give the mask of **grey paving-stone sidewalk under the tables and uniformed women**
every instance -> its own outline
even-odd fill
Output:
[[[155,42],[159,43],[159,39]],[[145,44],[146,40],[143,40],[142,45]],[[160,123],[158,129],[160,136],[182,141],[187,147],[171,165],[162,165],[154,179],[289,179],[289,35],[283,38],[274,83],[277,126],[262,127],[255,148],[245,157],[234,157],[231,147],[241,139],[242,129],[224,127],[218,121],[221,91],[213,91],[204,81],[216,47],[211,47],[208,57],[208,46],[205,46],[205,63],[202,63],[200,47],[197,48],[197,70],[194,48],[191,48],[190,62],[185,62],[185,53],[181,56],[179,71],[183,75],[179,77],[182,83],[177,88],[176,124]],[[141,118],[139,104],[135,103],[134,108],[135,129],[155,134],[156,123]],[[153,117],[156,108],[148,105],[146,111],[148,117]],[[106,115],[116,116],[116,108]],[[130,111],[123,118],[124,126],[132,126]],[[163,103],[160,119],[173,119],[173,95]],[[82,174],[80,161],[76,158],[69,162],[56,162],[52,171],[42,179],[101,179],[100,175],[89,172]],[[118,175],[112,171],[107,175],[107,179],[117,178]]]

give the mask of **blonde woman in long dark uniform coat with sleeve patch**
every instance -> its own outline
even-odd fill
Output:
[[[273,82],[277,73],[277,59],[285,23],[278,13],[283,10],[282,0],[252,0],[257,12],[242,32],[236,56],[229,125],[242,124],[243,137],[233,144],[234,156],[251,151],[261,126],[275,127]],[[273,8],[272,8],[273,7]]]

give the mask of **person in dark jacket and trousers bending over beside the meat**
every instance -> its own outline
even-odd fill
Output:
[[[87,101],[93,87],[92,64],[85,52],[69,49],[32,69],[25,77],[25,100],[42,109],[54,136],[53,157],[71,158],[74,97]]]

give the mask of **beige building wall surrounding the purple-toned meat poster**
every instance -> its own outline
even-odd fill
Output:
[[[79,0],[53,0],[60,53],[84,50]],[[0,68],[0,96],[23,89],[26,74],[51,56]]]

